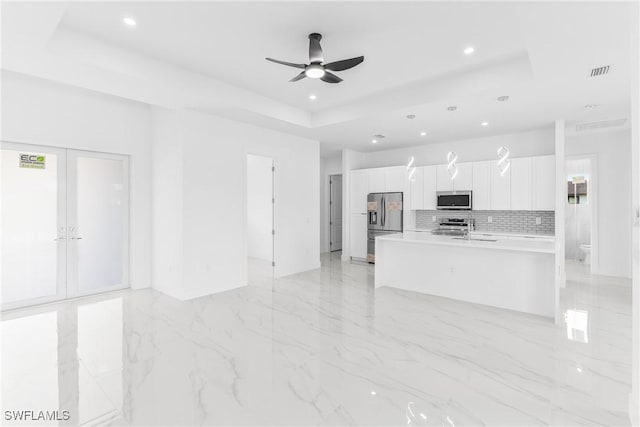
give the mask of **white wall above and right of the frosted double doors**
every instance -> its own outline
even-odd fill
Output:
[[[151,283],[151,126],[147,105],[2,71],[3,141],[131,156],[131,286]]]

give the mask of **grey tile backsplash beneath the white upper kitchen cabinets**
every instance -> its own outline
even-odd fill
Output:
[[[476,231],[496,231],[522,234],[555,234],[554,211],[416,211],[416,228],[434,228],[446,218],[471,218]],[[432,217],[436,221],[432,221]],[[489,217],[492,222],[489,223]],[[540,224],[536,224],[540,218]]]

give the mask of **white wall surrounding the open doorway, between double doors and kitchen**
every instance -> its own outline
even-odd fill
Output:
[[[154,238],[170,218],[182,228],[182,241],[172,239],[182,247],[182,277],[159,289],[187,299],[246,284],[247,154],[274,160],[276,276],[320,266],[317,141],[191,111],[154,108],[153,115],[157,134],[169,128],[182,153],[178,195],[155,189],[175,170],[153,170],[154,208],[165,207],[154,215]],[[154,141],[154,151],[169,151],[163,139],[171,137]],[[154,254],[154,283],[171,274],[169,265]]]

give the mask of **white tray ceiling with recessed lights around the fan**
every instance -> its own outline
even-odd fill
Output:
[[[628,116],[631,3],[3,3],[3,68],[318,139],[388,149]],[[133,16],[135,28],[122,23]],[[344,82],[288,80],[364,55]],[[463,49],[474,46],[473,55]],[[611,65],[590,78],[592,67]],[[318,96],[310,101],[308,95]],[[501,95],[510,97],[497,102]],[[598,104],[585,109],[585,104]],[[446,107],[457,105],[455,112]],[[416,119],[408,120],[407,114]],[[482,121],[489,126],[481,127]],[[421,137],[420,131],[427,136]],[[384,142],[372,145],[373,134]]]

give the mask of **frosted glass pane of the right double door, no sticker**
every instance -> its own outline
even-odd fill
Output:
[[[78,157],[78,290],[121,286],[124,272],[125,197],[121,160]]]

